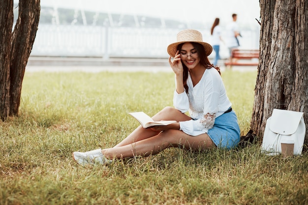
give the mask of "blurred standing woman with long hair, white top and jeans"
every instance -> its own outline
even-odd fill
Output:
[[[220,56],[219,56],[220,41],[223,42],[221,38],[221,28],[219,26],[219,18],[216,18],[214,20],[213,26],[211,28],[211,35],[212,35],[211,43],[213,46],[213,50],[215,51],[215,58],[214,58],[213,64],[217,66],[217,62],[220,59]]]

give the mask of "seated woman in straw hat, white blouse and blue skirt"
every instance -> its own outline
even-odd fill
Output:
[[[240,142],[240,128],[218,67],[208,56],[212,46],[197,30],[182,30],[168,46],[169,64],[175,73],[174,107],[165,107],[154,121],[176,120],[166,126],[138,126],[118,145],[73,152],[80,165],[108,164],[115,159],[149,156],[169,147],[192,151],[231,149]],[[173,58],[173,60],[172,60]],[[189,116],[186,112],[189,112]]]

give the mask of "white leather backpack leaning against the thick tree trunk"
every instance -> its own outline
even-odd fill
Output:
[[[261,152],[268,155],[281,153],[281,143],[293,143],[294,155],[302,154],[306,134],[304,113],[274,109],[266,121]]]

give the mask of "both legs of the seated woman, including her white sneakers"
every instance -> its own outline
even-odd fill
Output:
[[[167,107],[157,113],[154,120],[191,119],[180,111]],[[216,147],[208,134],[190,136],[181,130],[169,129],[155,132],[151,129],[138,127],[117,146],[107,149],[95,149],[88,152],[73,152],[73,158],[78,164],[106,164],[110,159],[132,158],[134,156],[149,156],[157,154],[168,147],[184,147],[185,149],[202,150]]]

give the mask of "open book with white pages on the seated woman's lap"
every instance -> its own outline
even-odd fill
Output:
[[[154,121],[150,116],[144,112],[128,113],[132,117],[135,117],[143,128],[153,127],[155,125],[168,125],[177,122],[176,120],[163,120],[163,121]]]

